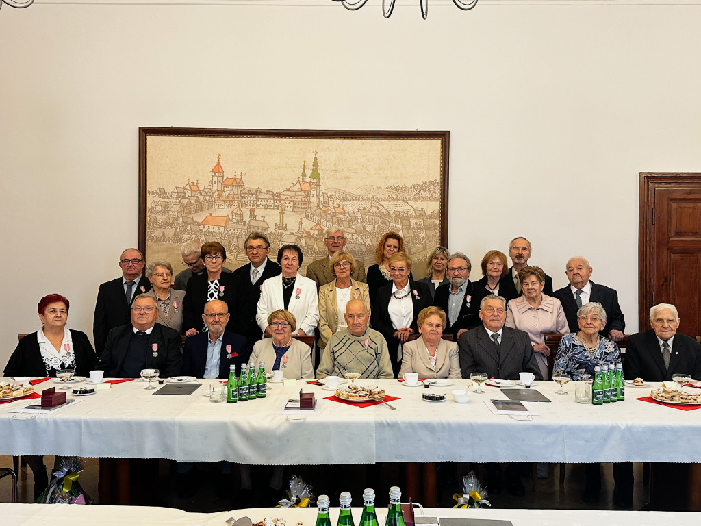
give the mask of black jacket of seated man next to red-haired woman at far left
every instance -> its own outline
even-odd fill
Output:
[[[131,323],[109,331],[107,342],[104,344],[102,361],[97,367],[97,369],[104,371],[105,377],[119,377],[119,371],[124,363],[133,334],[134,327]],[[154,330],[149,335],[149,352],[146,353],[145,368],[158,369],[161,378],[179,375],[182,368],[181,341],[180,333],[177,330],[156,323]],[[155,358],[151,352],[152,344],[158,344],[158,356]]]

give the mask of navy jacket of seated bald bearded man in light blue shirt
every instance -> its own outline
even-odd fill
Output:
[[[267,265],[266,265],[267,267]],[[249,280],[250,281],[250,280]],[[182,353],[182,374],[196,378],[205,377],[207,366],[207,342],[209,333],[200,332],[185,340]],[[231,358],[226,358],[226,346],[231,345]],[[229,378],[229,366],[236,365],[236,376],[241,374],[241,364],[246,363],[248,350],[243,336],[224,330],[222,352],[219,355],[219,378]]]

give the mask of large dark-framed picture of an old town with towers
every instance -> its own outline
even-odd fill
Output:
[[[447,245],[448,153],[448,131],[139,128],[139,248],[177,273],[182,243],[219,241],[233,270],[261,231],[272,259],[299,245],[304,273],[329,227],[366,266],[395,231],[418,279]]]

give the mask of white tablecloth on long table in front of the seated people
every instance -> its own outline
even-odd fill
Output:
[[[467,404],[448,395],[444,403],[421,399],[423,387],[378,380],[399,396],[383,405],[355,407],[325,400],[321,413],[304,420],[275,415],[299,389],[318,398],[331,392],[299,382],[272,386],[268,398],[210,403],[210,382],[191,396],[154,396],[140,382],[126,382],[83,397],[56,414],[12,414],[17,401],[0,405],[0,453],[77,454],[83,457],[229,460],[246,464],[365,464],[375,461],[701,461],[701,440],[683,440],[701,431],[701,410],[682,411],[639,400],[649,389],[627,389],[623,403],[579,405],[573,386],[556,395],[557,385],[537,389],[552,403],[535,405],[539,416],[517,421],[496,416],[484,405],[505,398],[496,388],[472,394]],[[365,382],[364,382],[365,383]],[[465,389],[469,381],[430,391]],[[50,386],[45,382],[38,386]]]

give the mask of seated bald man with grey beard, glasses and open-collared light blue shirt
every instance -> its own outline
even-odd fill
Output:
[[[229,378],[229,366],[236,365],[236,376],[241,364],[248,359],[246,339],[226,330],[229,308],[219,299],[205,304],[202,321],[207,332],[200,332],[185,340],[182,353],[182,374],[196,378]]]

